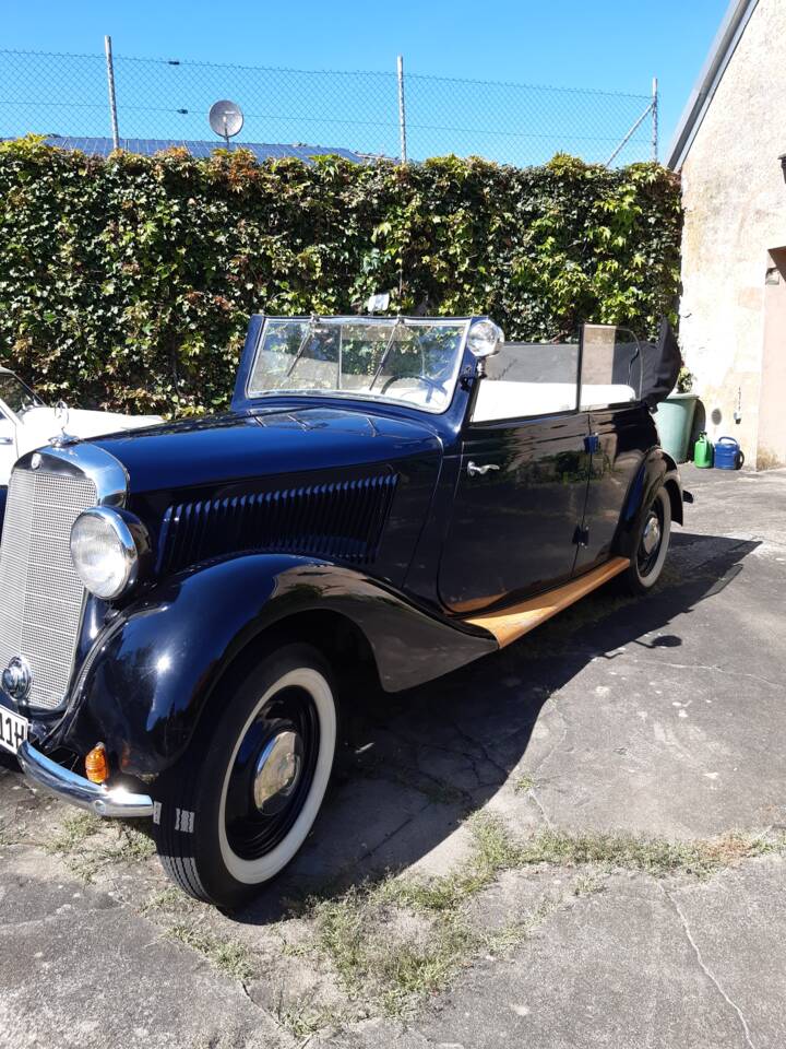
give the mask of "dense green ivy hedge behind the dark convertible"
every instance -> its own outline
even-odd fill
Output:
[[[0,145],[0,354],[50,399],[225,406],[248,315],[489,314],[510,339],[582,320],[646,334],[672,306],[674,175],[557,156],[258,164]]]

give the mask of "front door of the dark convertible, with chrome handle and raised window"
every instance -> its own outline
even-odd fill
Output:
[[[507,366],[505,349],[465,427],[440,562],[441,600],[461,613],[569,579],[584,516],[588,421],[575,409],[575,379],[569,369],[567,381],[527,381],[532,368],[521,356],[517,370]],[[520,417],[493,417],[516,408]]]

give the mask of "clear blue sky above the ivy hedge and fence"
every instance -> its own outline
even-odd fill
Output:
[[[725,0],[400,0],[395,4],[356,0],[233,0],[221,4],[204,0],[116,0],[112,4],[106,0],[5,0],[0,46],[99,55],[104,34],[110,33],[118,56],[305,70],[373,70],[388,74],[394,71],[395,57],[401,52],[409,74],[619,91],[640,96],[650,93],[652,76],[657,75],[663,157],[725,9]],[[34,90],[46,91],[47,99],[66,98],[68,85],[63,79],[71,79],[70,73],[63,69],[49,72],[31,68],[31,81],[23,83],[24,70],[17,67],[7,64],[3,74],[0,55],[0,125],[10,119],[11,110],[15,120],[27,121],[0,126],[0,134],[20,130],[108,133],[105,86],[97,75],[98,64],[91,69],[96,81],[95,97],[87,99],[85,94],[84,99],[94,104],[95,126],[85,116],[90,106],[80,111],[79,106],[68,107],[62,101],[59,109],[36,109],[29,105]],[[86,67],[74,67],[73,76],[86,74]],[[44,83],[49,75],[51,85]],[[188,87],[187,76],[191,76]],[[165,90],[164,84],[170,83],[166,78],[178,86]],[[120,133],[207,138],[204,98],[211,93],[230,97],[235,94],[248,110],[243,132],[247,140],[298,140],[396,152],[394,105],[390,107],[390,127],[383,129],[380,125],[374,130],[374,121],[367,119],[369,111],[379,107],[380,98],[389,98],[394,82],[392,87],[384,79],[348,82],[342,86],[338,101],[331,95],[333,82],[317,79],[310,87],[308,83],[295,76],[286,82],[281,78],[265,81],[252,74],[233,79],[221,71],[128,64],[118,70]],[[297,106],[306,104],[305,93],[309,90],[314,93],[308,99],[309,119],[287,122],[285,117],[298,116]],[[579,99],[569,94],[524,96],[510,91],[462,91],[416,79],[410,92],[416,152],[445,152],[452,146],[457,152],[472,149],[514,161],[538,160],[538,150],[552,151],[548,135],[559,121],[563,129],[571,126],[572,138],[565,139],[565,143],[573,152],[580,152],[585,142],[586,154],[600,158],[619,130],[629,127],[631,117],[642,108],[641,99],[635,98],[615,101],[598,95]],[[175,116],[176,107],[188,108],[189,99],[192,111]],[[580,102],[586,103],[584,108]],[[531,105],[535,106],[532,110],[527,109]],[[325,117],[324,121],[317,120],[317,110]],[[469,132],[479,127],[491,130],[476,141]],[[648,125],[644,125],[636,135],[633,149],[640,154],[646,152],[648,133]],[[514,141],[515,134],[520,138]],[[562,145],[562,141],[557,145]],[[638,157],[631,154],[626,158]]]

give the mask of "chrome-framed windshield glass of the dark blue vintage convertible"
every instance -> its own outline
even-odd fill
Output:
[[[330,393],[443,412],[468,326],[420,317],[267,318],[248,396]]]

